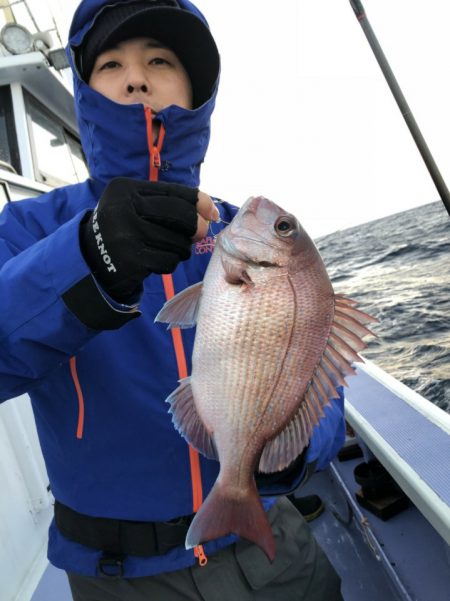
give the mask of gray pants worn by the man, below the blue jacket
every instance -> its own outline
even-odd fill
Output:
[[[342,601],[340,579],[297,509],[281,499],[269,512],[277,542],[270,563],[240,541],[206,567],[130,580],[69,574],[74,601]]]

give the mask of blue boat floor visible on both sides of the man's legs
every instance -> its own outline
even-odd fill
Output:
[[[353,497],[357,488],[353,469],[360,461],[362,459],[335,463],[339,477]],[[444,601],[449,598],[449,547],[414,507],[387,522],[361,509],[406,589],[406,594],[402,594],[388,576],[383,562],[365,542],[355,519],[345,523],[351,515],[350,509],[331,470],[315,474],[296,494],[312,493],[321,496],[326,509],[310,526],[342,578],[345,601]],[[336,519],[335,513],[342,520]],[[71,601],[65,573],[49,566],[31,601]]]

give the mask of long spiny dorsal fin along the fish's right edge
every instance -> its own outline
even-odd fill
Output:
[[[313,427],[324,416],[323,408],[337,398],[345,377],[355,375],[353,362],[363,362],[358,352],[366,348],[362,337],[374,336],[365,325],[377,321],[355,308],[356,302],[335,297],[335,317],[323,355],[314,370],[299,409],[287,426],[264,447],[259,471],[277,472],[288,467],[309,443]]]

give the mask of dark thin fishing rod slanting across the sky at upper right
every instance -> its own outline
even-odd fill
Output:
[[[445,208],[447,209],[447,213],[450,215],[450,192],[447,188],[447,185],[444,181],[444,178],[441,175],[441,172],[436,165],[436,162],[428,148],[427,143],[425,142],[425,138],[422,135],[422,132],[417,125],[416,120],[414,119],[414,115],[411,112],[411,109],[406,102],[406,98],[403,95],[403,92],[398,85],[397,80],[395,79],[395,75],[387,61],[387,58],[377,40],[377,37],[372,29],[372,26],[369,23],[369,20],[366,15],[366,11],[362,2],[360,0],[350,0],[350,4],[355,12],[356,18],[359,21],[359,24],[362,27],[362,30],[365,33],[367,41],[369,42],[370,47],[373,50],[375,58],[378,61],[378,64],[381,67],[384,77],[391,89],[391,92],[397,102],[397,105],[400,109],[400,112],[403,115],[403,118],[406,121],[406,125],[411,132],[412,137],[419,149],[420,154],[427,166],[428,172],[431,175],[431,179],[434,182],[434,185],[439,192],[439,196],[441,197],[442,202],[444,203]]]

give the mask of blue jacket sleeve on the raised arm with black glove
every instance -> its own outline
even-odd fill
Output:
[[[31,390],[99,333],[77,315],[77,298],[89,313],[105,305],[128,319],[103,298],[83,259],[84,211],[54,229],[57,212],[36,199],[0,213],[0,401]]]

